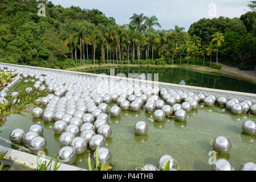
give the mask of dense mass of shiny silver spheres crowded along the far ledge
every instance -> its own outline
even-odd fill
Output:
[[[35,103],[46,108],[43,110],[41,107],[35,107],[32,116],[42,117],[44,122],[55,122],[54,132],[60,134],[59,143],[62,146],[58,152],[59,161],[66,164],[74,163],[76,154],[83,153],[87,145],[91,150],[100,147],[100,163],[111,163],[111,152],[105,148],[105,139],[112,134],[108,121],[110,116],[119,117],[121,110],[136,112],[145,107],[147,112],[153,113],[156,122],[164,121],[165,117],[170,115],[174,115],[177,121],[184,122],[188,113],[197,109],[199,104],[218,104],[234,114],[256,115],[256,105],[250,100],[241,101],[239,98],[230,99],[172,88],[160,89],[158,86],[139,85],[136,82],[131,84],[122,80],[26,67],[17,67],[17,71],[24,79],[37,80],[33,88],[26,89],[27,93],[32,89],[47,88],[50,91],[47,97],[39,98]],[[109,109],[108,104],[111,102],[116,102],[116,105]],[[108,111],[110,115],[107,114]],[[255,122],[246,121],[242,130],[247,134],[255,134]],[[147,134],[147,123],[137,122],[134,131],[137,135]]]

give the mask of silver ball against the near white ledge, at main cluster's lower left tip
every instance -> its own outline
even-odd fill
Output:
[[[71,146],[64,146],[58,151],[59,162],[64,164],[72,164],[76,160],[76,151]]]

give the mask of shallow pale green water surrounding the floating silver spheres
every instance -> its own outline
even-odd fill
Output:
[[[20,82],[15,91],[25,90],[32,86],[33,82]],[[109,107],[116,105],[115,102]],[[234,115],[223,107],[206,107],[200,105],[197,110],[188,113],[186,122],[175,121],[174,118],[166,118],[163,122],[152,122],[148,118],[153,113],[122,111],[118,118],[110,119],[112,137],[107,139],[107,148],[112,153],[113,170],[135,170],[143,164],[156,165],[157,159],[164,154],[172,155],[177,160],[182,170],[211,170],[208,164],[213,150],[209,141],[218,136],[225,136],[231,142],[229,154],[217,154],[217,159],[229,159],[235,169],[239,169],[242,163],[256,162],[256,136],[242,133],[242,123],[247,120],[256,121],[255,115]],[[133,126],[137,121],[148,123],[148,133],[144,136],[136,135]],[[43,126],[43,137],[47,141],[47,156],[54,156],[59,148],[59,134],[53,130],[54,122],[43,122],[42,118],[29,119],[20,115],[11,115],[6,123],[0,127],[0,137],[9,139],[9,133],[13,129],[21,128],[25,131],[33,124]],[[0,144],[17,149],[14,145],[0,140]],[[23,145],[23,144],[21,144]],[[89,148],[76,156],[72,165],[88,169],[88,155],[93,151]]]

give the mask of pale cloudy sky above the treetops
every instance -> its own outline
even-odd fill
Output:
[[[219,16],[240,17],[249,11],[249,0],[51,0],[63,7],[79,6],[82,9],[98,9],[116,19],[117,24],[129,23],[133,13],[156,15],[163,29],[174,25],[185,27],[201,18]],[[216,11],[214,11],[214,3]],[[157,29],[157,28],[156,28]]]

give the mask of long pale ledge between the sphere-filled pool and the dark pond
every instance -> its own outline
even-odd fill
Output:
[[[55,72],[66,72],[66,73],[72,73],[75,75],[87,75],[87,76],[93,76],[93,77],[107,77],[107,78],[113,78],[115,80],[126,80],[126,81],[136,81],[141,82],[141,84],[149,84],[154,86],[162,87],[168,87],[168,88],[180,88],[183,91],[192,91],[192,92],[198,92],[198,93],[207,93],[207,94],[218,94],[218,96],[225,96],[227,98],[233,98],[238,97],[242,100],[251,100],[253,103],[256,103],[256,94],[254,93],[246,93],[246,92],[236,92],[231,90],[220,90],[220,89],[211,89],[211,88],[204,88],[204,87],[198,87],[198,86],[190,86],[190,85],[178,85],[178,84],[171,84],[166,82],[157,82],[157,81],[149,81],[149,80],[139,80],[136,78],[127,78],[127,77],[117,77],[117,76],[108,76],[108,75],[100,75],[100,74],[94,74],[94,73],[85,73],[85,72],[76,72],[76,71],[68,71],[68,70],[62,70],[62,69],[53,69],[53,68],[42,68],[42,67],[32,67],[27,65],[17,65],[17,64],[9,64],[9,63],[0,63],[0,64],[6,64],[6,65],[14,65],[19,67],[26,67],[26,68],[32,68],[32,69],[42,69],[47,71],[55,71]]]

